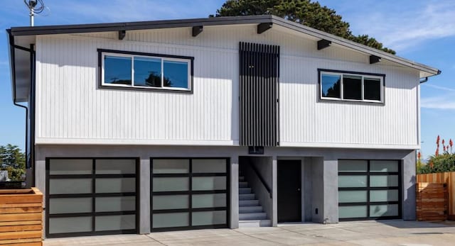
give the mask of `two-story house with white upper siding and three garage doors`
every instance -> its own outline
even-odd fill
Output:
[[[438,69],[276,16],[8,33],[47,237],[415,219]]]

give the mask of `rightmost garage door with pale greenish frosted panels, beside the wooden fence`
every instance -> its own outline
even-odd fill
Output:
[[[338,160],[340,220],[401,218],[397,160]]]

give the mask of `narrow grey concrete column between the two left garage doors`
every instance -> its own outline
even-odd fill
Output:
[[[150,233],[150,158],[141,157],[139,170],[139,233]]]

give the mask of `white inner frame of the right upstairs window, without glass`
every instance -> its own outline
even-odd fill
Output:
[[[322,96],[322,76],[326,75],[335,75],[335,76],[340,76],[341,77],[341,84],[340,84],[340,98],[335,98],[335,97],[327,97],[327,96]],[[361,96],[362,99],[360,100],[355,100],[355,99],[343,99],[343,77],[344,75],[349,75],[349,76],[359,76],[362,78],[361,82]],[[376,75],[376,74],[362,74],[362,73],[355,73],[355,72],[330,72],[330,71],[324,71],[321,70],[319,72],[319,96],[322,100],[331,100],[331,101],[360,101],[360,102],[368,102],[368,103],[384,103],[384,75]],[[367,79],[379,79],[380,80],[380,100],[368,100],[365,99],[365,78]]]

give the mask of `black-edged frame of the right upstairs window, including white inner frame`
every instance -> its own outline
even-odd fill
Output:
[[[326,72],[326,73],[329,73],[329,74],[337,74],[337,75],[340,75],[341,76],[341,85],[340,85],[340,98],[332,98],[332,97],[324,97],[322,96],[322,81],[321,81],[321,77],[322,77],[322,74]],[[343,99],[343,74],[346,74],[346,75],[358,75],[358,76],[361,76],[362,77],[362,91],[361,94],[363,95],[364,94],[364,86],[363,86],[363,83],[364,83],[364,78],[365,77],[373,77],[373,79],[376,79],[376,78],[379,78],[381,79],[381,83],[380,83],[380,86],[381,86],[381,89],[380,89],[380,101],[376,101],[376,100],[365,100],[365,99],[360,99],[360,100],[356,100],[356,99]],[[328,101],[328,102],[343,102],[343,103],[366,103],[366,104],[382,104],[384,105],[385,104],[385,74],[375,74],[375,73],[369,73],[369,72],[353,72],[353,71],[344,71],[344,70],[334,70],[334,69],[321,69],[319,68],[318,69],[318,98],[319,98],[319,101]]]

